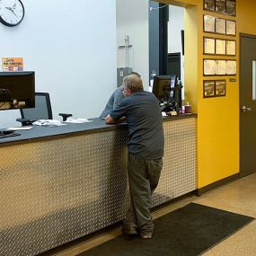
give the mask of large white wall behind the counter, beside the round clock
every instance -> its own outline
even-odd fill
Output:
[[[23,57],[36,72],[36,91],[49,92],[58,112],[92,118],[116,88],[115,0],[23,0],[17,27],[0,23],[0,57]],[[146,65],[146,64],[144,64]],[[18,126],[18,110],[0,111],[0,128]]]

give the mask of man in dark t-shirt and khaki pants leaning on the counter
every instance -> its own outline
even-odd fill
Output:
[[[152,193],[163,165],[163,120],[159,102],[145,92],[137,75],[124,78],[125,98],[106,117],[106,123],[128,122],[128,182],[130,207],[122,226],[124,234],[151,238],[154,224],[150,213]]]

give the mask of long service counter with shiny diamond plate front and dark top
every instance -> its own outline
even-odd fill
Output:
[[[0,139],[0,255],[35,255],[124,218],[128,128],[92,120]],[[196,190],[196,126],[196,115],[163,119],[153,207]]]

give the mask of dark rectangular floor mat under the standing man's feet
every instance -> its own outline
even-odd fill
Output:
[[[124,234],[79,256],[192,256],[207,251],[254,218],[190,203],[154,220],[154,236]]]

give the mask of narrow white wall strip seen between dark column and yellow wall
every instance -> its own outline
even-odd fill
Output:
[[[184,30],[184,8],[169,5],[168,52],[181,52],[181,82],[184,84],[184,56],[182,56],[181,31]],[[183,90],[184,91],[184,90]]]

